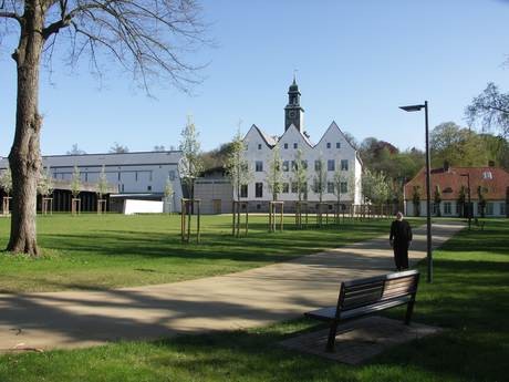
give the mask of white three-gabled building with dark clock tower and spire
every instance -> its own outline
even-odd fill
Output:
[[[322,202],[335,203],[334,174],[340,171],[344,174],[346,184],[342,186],[341,204],[344,206],[361,204],[362,162],[356,149],[350,144],[335,122],[332,122],[318,144],[312,144],[304,131],[304,110],[300,106],[300,92],[293,79],[289,89],[289,103],[284,107],[284,133],[281,136],[271,136],[252,125],[245,136],[247,146],[246,156],[253,171],[252,182],[241,190],[241,200],[251,202],[252,210],[267,210],[268,203],[273,199],[267,183],[272,149],[279,145],[282,159],[283,185],[278,200],[288,202],[292,207],[298,200],[297,186],[292,182],[292,166],[298,149],[301,149],[304,166],[308,167],[308,187],[305,199],[319,202],[319,194],[314,192],[313,182],[315,166],[320,159],[326,166],[328,186],[322,195]],[[293,163],[292,163],[293,162]]]

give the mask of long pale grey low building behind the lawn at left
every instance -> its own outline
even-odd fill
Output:
[[[173,204],[172,210],[179,211],[180,204],[176,200],[180,200],[183,197],[178,174],[180,158],[180,151],[48,155],[42,157],[42,164],[43,167],[50,169],[56,182],[60,180],[63,184],[73,178],[74,167],[77,167],[81,182],[84,185],[96,184],[104,166],[110,188],[115,190],[111,194],[115,200],[123,200],[126,197],[162,200],[166,182],[169,179],[175,193],[173,199],[169,200]],[[0,158],[0,172],[8,166],[8,159]],[[121,211],[121,204],[117,202],[114,209]]]

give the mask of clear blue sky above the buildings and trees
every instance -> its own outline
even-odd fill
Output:
[[[430,126],[465,125],[465,107],[488,82],[509,91],[509,1],[202,0],[207,37],[191,56],[208,63],[183,93],[160,83],[154,96],[112,70],[98,81],[85,63],[55,58],[41,73],[41,152],[87,153],[114,142],[132,152],[178,146],[193,115],[202,149],[256,124],[284,132],[283,107],[297,70],[305,130],[318,142],[332,121],[357,141],[374,136],[402,149],[424,147],[424,115],[399,105],[429,102]],[[13,37],[0,42],[0,156],[14,134]]]

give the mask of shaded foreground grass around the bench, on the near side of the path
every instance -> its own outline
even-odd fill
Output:
[[[302,319],[232,333],[8,354],[0,357],[0,381],[507,381],[508,237],[507,220],[488,220],[485,231],[463,230],[435,251],[435,282],[420,285],[414,319],[446,330],[366,365],[279,348],[281,339],[316,328]]]

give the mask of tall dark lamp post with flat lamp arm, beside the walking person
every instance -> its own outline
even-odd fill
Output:
[[[405,112],[419,112],[424,109],[424,122],[426,134],[426,257],[427,257],[427,281],[433,282],[433,252],[432,252],[432,183],[430,183],[430,156],[429,156],[429,126],[428,126],[428,102],[422,105],[399,106]]]

